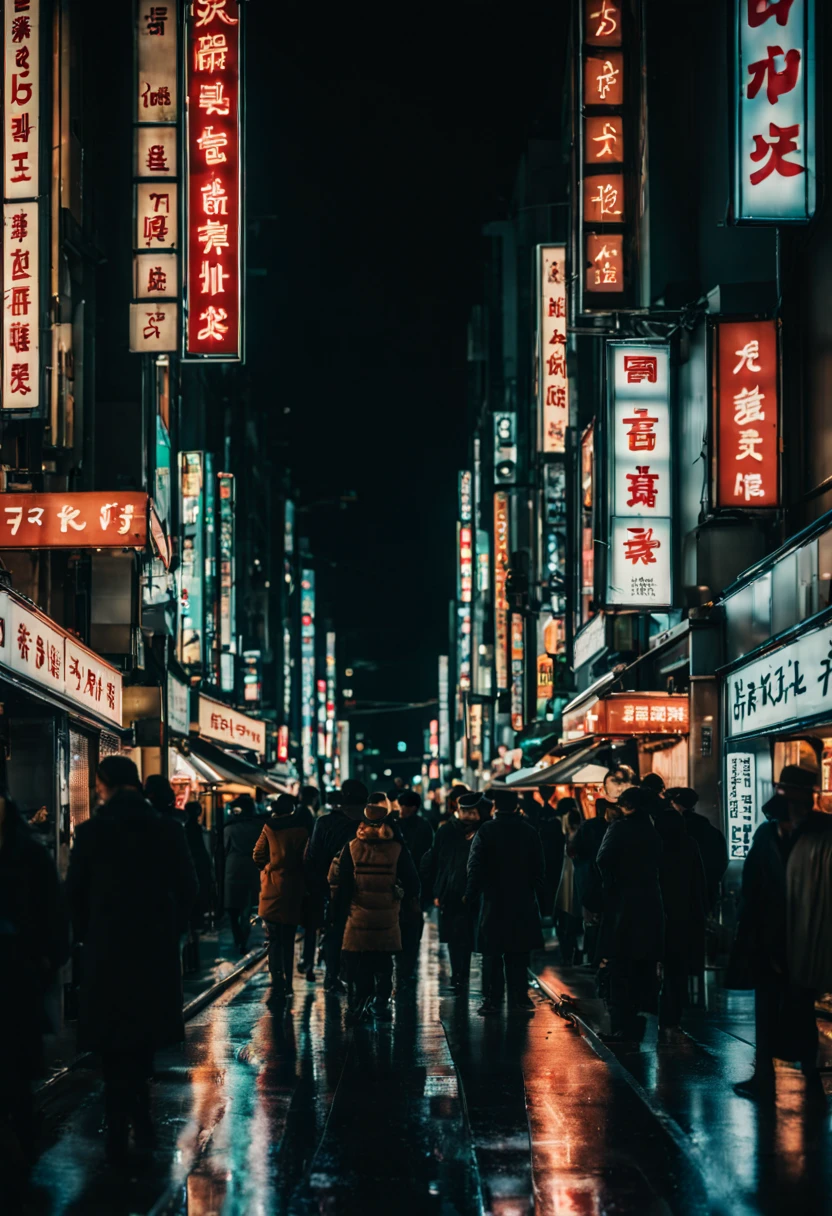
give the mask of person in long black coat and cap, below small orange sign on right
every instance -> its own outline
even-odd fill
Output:
[[[654,1007],[664,952],[662,840],[637,787],[623,790],[618,809],[622,817],[607,828],[597,856],[603,884],[598,952],[608,961],[611,1037],[640,1040],[639,1012]]]

